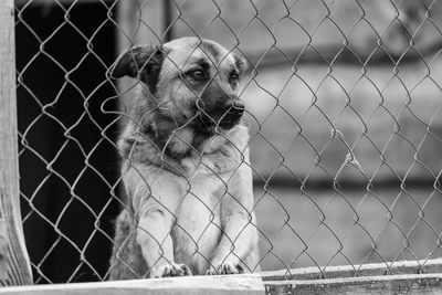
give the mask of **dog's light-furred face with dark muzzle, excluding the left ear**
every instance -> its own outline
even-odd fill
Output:
[[[235,120],[241,114],[228,114],[238,98],[243,61],[213,41],[185,38],[164,44],[164,57],[157,84],[160,108],[178,122],[204,113],[209,120]],[[234,113],[234,112],[233,112]],[[227,124],[228,126],[229,124]]]

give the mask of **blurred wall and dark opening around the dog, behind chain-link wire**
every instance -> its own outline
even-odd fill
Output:
[[[134,44],[186,35],[251,64],[241,97],[263,271],[441,256],[440,1],[17,0],[15,21],[38,283],[106,278],[114,143],[135,83],[107,70]]]

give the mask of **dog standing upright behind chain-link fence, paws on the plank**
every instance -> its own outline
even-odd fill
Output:
[[[117,59],[110,76],[138,83],[117,143],[126,200],[109,280],[259,270],[244,71],[238,54],[197,38]]]

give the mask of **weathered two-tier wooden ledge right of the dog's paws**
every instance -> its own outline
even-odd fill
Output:
[[[440,294],[442,259],[262,273],[271,294]]]

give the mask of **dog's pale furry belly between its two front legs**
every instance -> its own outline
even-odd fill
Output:
[[[175,260],[188,264],[193,273],[202,273],[221,236],[221,199],[227,196],[222,181],[215,177],[193,180],[190,185],[178,208],[171,236]]]

